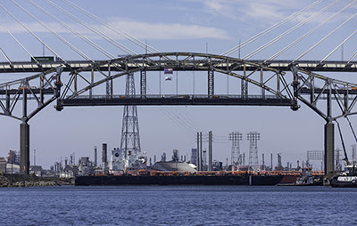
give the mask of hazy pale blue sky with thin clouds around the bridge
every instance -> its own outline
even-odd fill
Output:
[[[67,26],[80,32],[96,44],[104,47],[112,55],[122,55],[125,52],[114,48],[103,38],[95,35],[87,28],[83,28],[78,22],[71,20],[64,13],[54,9],[49,1],[36,0],[35,3],[41,5],[52,15],[58,17]],[[295,0],[181,0],[181,1],[158,1],[158,0],[133,0],[133,1],[94,1],[94,0],[72,0],[74,4],[94,13],[96,16],[105,20],[112,28],[124,30],[132,36],[136,36],[143,42],[147,42],[161,52],[210,52],[220,54],[231,47],[244,42],[249,37],[254,36],[266,28],[284,20],[292,13],[297,12],[303,7],[315,1],[295,1]],[[249,44],[241,52],[236,52],[244,57],[245,54],[252,52],[262,44],[267,43],[272,38],[279,36],[289,28],[293,28],[299,22],[310,17],[313,13],[334,1],[321,1],[316,7],[308,12],[304,12],[299,17],[287,22],[281,28],[277,28],[269,35],[263,36],[253,44]],[[320,21],[327,19],[335,12],[339,11],[346,4],[352,1],[342,1],[337,3],[328,11],[320,16],[309,20],[294,32],[279,40],[276,44],[266,48],[263,52],[253,56],[253,60],[264,60],[292,43],[299,36],[303,36],[311,28],[316,27]],[[62,1],[54,1],[55,4],[65,7],[66,10],[85,20],[87,24],[101,30],[107,36],[125,44],[135,52],[143,53],[137,45],[118,36],[115,32],[104,28],[103,25],[89,19],[79,12],[71,9]],[[45,40],[63,59],[83,60],[71,49],[61,43],[54,35],[50,34],[36,20],[33,20],[22,12],[21,9],[12,4],[12,1],[0,1],[9,12],[30,28],[37,36]],[[34,13],[37,18],[43,21],[46,26],[54,29],[58,34],[68,39],[71,44],[85,52],[87,56],[95,60],[107,59],[102,53],[88,46],[78,36],[64,28],[45,13],[37,10],[29,1],[21,1],[21,5]],[[279,56],[280,60],[294,60],[297,56],[326,36],[331,30],[336,28],[344,20],[356,12],[357,4],[339,13],[333,20],[329,20],[325,26],[312,33],[294,48]],[[320,60],[328,52],[331,52],[337,44],[340,44],[347,36],[350,36],[355,26],[356,20],[353,19],[340,28],[336,34],[330,36],[316,50],[304,56],[303,60]],[[43,45],[21,28],[21,25],[12,19],[3,9],[0,9],[0,47],[6,52],[12,61],[29,61],[29,55],[21,49],[12,36],[26,46],[32,55],[42,55]],[[332,54],[328,60],[340,61],[347,60],[356,51],[356,37],[353,36],[344,44],[343,50],[338,50]],[[47,49],[46,55],[54,55]],[[0,55],[0,61],[6,61]],[[289,73],[288,73],[289,74]],[[30,74],[26,75],[29,76]],[[192,72],[179,73],[179,93],[187,91],[193,92]],[[0,83],[10,79],[23,77],[24,75],[2,74]],[[176,74],[174,73],[173,77]],[[197,73],[195,80],[195,92],[203,90],[200,79],[206,74]],[[289,74],[290,76],[290,74]],[[357,83],[353,73],[350,74],[325,74],[325,76],[340,77]],[[62,74],[63,80],[66,73]],[[157,89],[158,73],[152,75],[149,81],[149,93],[154,93]],[[155,78],[156,77],[156,78]],[[138,77],[136,78],[138,82]],[[119,83],[124,81],[119,80]],[[216,90],[221,93],[237,93],[240,83],[227,76],[218,75],[216,80]],[[162,93],[176,93],[175,78],[171,82],[163,81],[162,73]],[[152,90],[150,90],[152,88]],[[137,89],[138,90],[138,89]],[[300,103],[302,104],[302,103]],[[323,102],[323,104],[325,104]],[[76,153],[76,158],[88,156],[93,159],[94,146],[98,147],[98,152],[102,148],[102,143],[108,143],[108,149],[120,147],[120,133],[123,107],[78,107],[65,108],[58,112],[48,106],[29,121],[30,125],[30,150],[31,162],[33,161],[33,149],[37,150],[37,165],[48,168],[55,161],[62,157],[70,157],[71,153]],[[270,153],[274,154],[274,165],[277,162],[277,153],[283,157],[283,165],[287,161],[296,164],[296,160],[305,161],[307,150],[321,150],[323,144],[323,128],[325,121],[315,114],[307,106],[293,112],[288,107],[138,107],[139,128],[141,138],[141,149],[146,151],[148,157],[156,155],[160,159],[162,152],[166,152],[170,157],[172,149],[179,149],[179,155],[190,157],[191,148],[195,148],[195,134],[198,131],[208,133],[212,130],[214,134],[213,158],[226,162],[228,157],[230,162],[231,143],[228,141],[228,133],[238,131],[244,133],[244,141],[241,141],[241,152],[245,152],[245,161],[248,162],[249,142],[246,141],[246,133],[257,131],[261,133],[261,141],[258,142],[259,162],[262,162],[262,153],[265,153],[265,161],[270,163]],[[351,117],[353,125],[357,123],[355,117]],[[7,156],[9,149],[20,148],[20,121],[10,117],[0,117],[1,145],[0,156]],[[351,145],[355,143],[353,135],[345,120],[341,120],[343,133],[345,135],[346,148],[351,153]],[[204,147],[207,147],[204,143]],[[341,142],[336,131],[336,147],[342,148]],[[98,159],[101,159],[99,156]],[[318,164],[317,166],[319,166]]]

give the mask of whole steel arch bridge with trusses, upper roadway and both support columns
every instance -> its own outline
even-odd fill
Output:
[[[312,65],[312,66],[311,66]],[[207,72],[204,94],[148,94],[147,72],[163,71]],[[158,52],[124,56],[110,61],[55,61],[36,63],[2,64],[1,72],[38,72],[0,85],[1,115],[20,119],[21,124],[21,169],[29,170],[29,119],[37,112],[56,101],[55,108],[69,106],[107,105],[255,105],[288,106],[299,109],[298,101],[327,121],[325,148],[333,153],[333,121],[339,117],[357,114],[357,85],[330,77],[324,77],[308,69],[320,71],[356,71],[356,62],[325,66],[313,62],[259,62],[243,61],[227,56],[195,52]],[[0,69],[1,70],[1,69]],[[62,74],[69,72],[69,76]],[[129,73],[139,73],[140,93],[127,97],[113,92],[113,80]],[[223,74],[237,79],[238,94],[215,93],[215,75]],[[252,86],[253,85],[253,86]],[[94,91],[105,86],[104,93]],[[251,89],[253,87],[253,89]],[[255,88],[254,88],[255,87]],[[253,91],[252,91],[253,90]],[[28,110],[28,101],[37,106]],[[22,102],[22,112],[16,115],[16,106]],[[326,105],[322,101],[326,101]],[[340,111],[332,114],[332,102]],[[322,103],[322,104],[321,104]],[[327,150],[325,150],[327,152]],[[330,157],[330,155],[325,155]],[[330,157],[331,158],[331,157]],[[326,174],[333,172],[332,159],[326,160]],[[332,167],[331,167],[332,162]]]

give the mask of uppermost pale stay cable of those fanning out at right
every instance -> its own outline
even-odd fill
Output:
[[[243,43],[237,44],[235,47],[229,49],[228,51],[221,53],[221,55],[231,55],[231,54],[233,54],[234,52],[239,51],[241,48],[245,47],[245,46],[248,45],[248,44],[253,43],[255,40],[257,40],[257,39],[260,38],[261,36],[264,36],[265,34],[268,34],[271,30],[280,27],[281,25],[285,24],[287,21],[294,19],[295,17],[299,16],[299,15],[302,14],[303,12],[308,11],[309,9],[311,9],[312,7],[314,7],[315,5],[320,4],[322,1],[324,1],[324,0],[319,0],[319,1],[316,1],[316,2],[314,2],[314,3],[312,3],[312,4],[308,5],[308,6],[306,6],[306,7],[303,8],[302,10],[300,10],[300,11],[298,11],[298,12],[295,12],[294,14],[290,15],[290,16],[287,17],[286,19],[281,20],[281,21],[279,21],[278,23],[276,23],[275,25],[271,26],[270,28],[267,28],[267,29],[263,30],[261,33],[255,35],[255,36],[252,36],[251,38],[245,40]]]

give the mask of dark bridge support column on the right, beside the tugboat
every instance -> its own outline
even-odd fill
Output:
[[[335,173],[335,125],[329,121],[325,125],[325,175]]]

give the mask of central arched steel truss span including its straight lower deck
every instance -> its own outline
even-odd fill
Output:
[[[160,96],[159,94],[146,94],[146,81],[150,77],[146,72],[163,71],[163,69],[207,71],[207,95]],[[96,76],[88,79],[84,75],[87,71],[95,71]],[[105,71],[108,71],[108,73],[105,73]],[[115,73],[109,73],[113,71]],[[120,93],[111,97],[105,97],[105,94],[91,96],[91,90],[95,89],[96,86],[135,72],[140,73],[140,94],[130,97],[130,100],[124,100],[122,98],[124,95],[120,96]],[[227,74],[239,78],[238,80],[242,81],[245,86],[245,91],[240,96],[215,94],[214,77],[217,74]],[[81,84],[80,87],[79,84]],[[249,95],[248,84],[259,87],[262,92],[259,95]],[[294,93],[291,92],[291,88],[285,80],[285,72],[271,69],[263,64],[226,56],[192,52],[128,56],[112,61],[97,62],[88,67],[76,69],[70,73],[69,82],[65,85],[64,91],[57,101],[57,109],[61,110],[65,106],[124,105],[129,104],[130,101],[136,105],[268,105],[290,106],[297,109]]]

